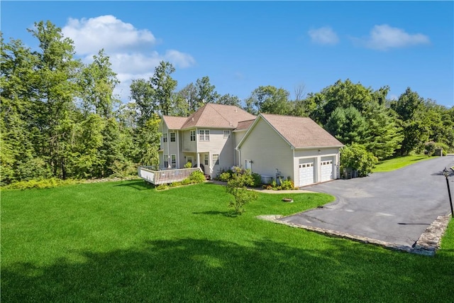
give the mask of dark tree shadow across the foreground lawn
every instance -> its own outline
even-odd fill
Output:
[[[319,245],[302,248],[266,239],[239,244],[182,238],[144,241],[108,252],[72,251],[77,261],[61,258],[44,266],[2,265],[1,299],[395,302],[417,298],[446,302],[451,298],[445,290],[452,289],[452,254],[428,258],[325,237]],[[421,277],[426,277],[423,283],[437,281],[430,287],[415,287]]]

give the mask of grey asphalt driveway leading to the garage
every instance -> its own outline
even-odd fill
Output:
[[[413,246],[437,216],[450,213],[441,170],[453,165],[454,157],[433,158],[393,172],[304,187],[336,201],[278,220]],[[454,194],[454,177],[449,180]]]

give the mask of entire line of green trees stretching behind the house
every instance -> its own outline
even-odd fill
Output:
[[[260,86],[245,100],[220,95],[209,77],[177,90],[175,67],[160,62],[150,79],[134,79],[130,101],[114,95],[119,81],[104,50],[84,64],[74,43],[50,21],[28,30],[39,42],[1,36],[1,183],[49,177],[99,178],[157,165],[162,115],[189,116],[207,103],[240,106],[251,114],[309,116],[345,145],[379,159],[441,147],[454,150],[454,107],[423,99],[410,88],[397,100],[389,87],[373,90],[339,80],[294,98]]]

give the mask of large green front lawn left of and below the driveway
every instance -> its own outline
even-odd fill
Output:
[[[292,197],[294,203],[281,202]],[[454,224],[435,257],[255,219],[330,202],[143,181],[1,192],[2,302],[449,302]]]

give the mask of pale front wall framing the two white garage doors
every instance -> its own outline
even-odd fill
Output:
[[[320,151],[319,151],[320,150]],[[321,166],[322,160],[333,159],[333,178],[338,179],[339,165],[339,148],[314,148],[314,149],[299,149],[294,150],[294,183],[299,186],[299,164],[304,162],[304,159],[314,159],[315,167],[315,182],[321,182]]]

